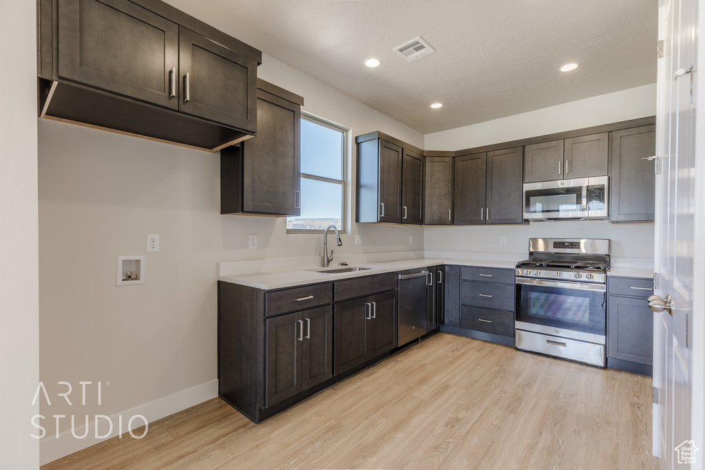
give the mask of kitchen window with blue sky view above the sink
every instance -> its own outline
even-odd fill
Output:
[[[301,116],[301,215],[286,218],[287,233],[319,233],[345,226],[348,129]]]

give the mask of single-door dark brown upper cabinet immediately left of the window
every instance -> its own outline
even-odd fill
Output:
[[[301,214],[302,104],[258,81],[257,137],[221,150],[221,214]]]

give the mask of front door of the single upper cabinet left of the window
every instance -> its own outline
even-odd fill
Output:
[[[257,91],[257,137],[242,142],[243,211],[301,214],[301,106]]]

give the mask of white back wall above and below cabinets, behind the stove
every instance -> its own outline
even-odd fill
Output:
[[[627,89],[551,106],[486,123],[436,132],[425,137],[426,149],[459,150],[527,137],[615,123],[656,114],[656,85]],[[499,237],[507,245],[499,245]],[[654,258],[654,223],[606,221],[532,222],[529,225],[429,227],[424,249],[479,253],[526,254],[530,237],[591,237],[612,240],[613,256]]]

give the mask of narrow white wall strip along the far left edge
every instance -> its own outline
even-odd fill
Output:
[[[35,469],[39,381],[37,56],[34,1],[0,15],[0,468]]]

